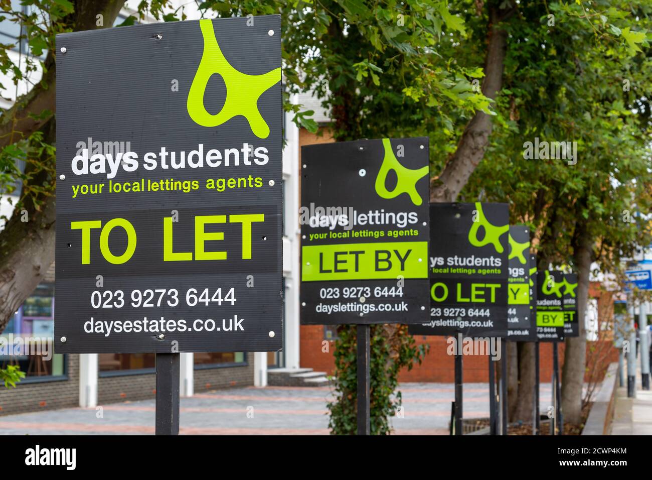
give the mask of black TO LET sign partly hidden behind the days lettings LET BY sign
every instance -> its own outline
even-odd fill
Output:
[[[507,204],[431,204],[430,224],[430,321],[409,332],[507,337]]]

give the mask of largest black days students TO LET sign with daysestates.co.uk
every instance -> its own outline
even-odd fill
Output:
[[[56,351],[280,349],[280,16],[56,52]]]

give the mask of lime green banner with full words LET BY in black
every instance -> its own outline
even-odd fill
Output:
[[[304,246],[302,281],[428,278],[428,242]]]

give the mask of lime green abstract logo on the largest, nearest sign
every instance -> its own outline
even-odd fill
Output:
[[[269,136],[269,126],[258,111],[258,98],[263,92],[281,80],[281,69],[274,69],[262,75],[248,75],[234,69],[228,62],[215,38],[213,22],[200,20],[204,48],[200,65],[192,80],[186,106],[188,114],[195,123],[202,127],[216,127],[243,116],[258,138]],[[226,99],[222,110],[215,115],[209,114],[203,104],[204,92],[213,74],[219,74],[226,85]]]

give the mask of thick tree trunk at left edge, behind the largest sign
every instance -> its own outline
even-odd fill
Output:
[[[61,24],[73,31],[111,27],[124,4],[125,0],[77,0],[74,1],[75,11]],[[102,26],[97,25],[98,15],[102,15]],[[45,142],[55,143],[54,55],[51,50],[46,57],[42,82],[3,113],[0,148],[38,130],[43,132]],[[38,116],[43,110],[50,110],[52,114],[39,119],[31,116]],[[12,217],[0,232],[0,332],[5,330],[10,317],[31,295],[54,261],[55,179],[50,178],[48,169],[53,169],[55,162],[42,157],[40,163],[46,165],[38,167],[35,163],[27,163],[26,173],[31,174],[31,178],[25,186],[27,189],[30,186],[43,189],[44,185],[51,184],[52,188],[47,194],[40,193],[35,198],[25,195],[23,188],[22,204],[16,205]]]

